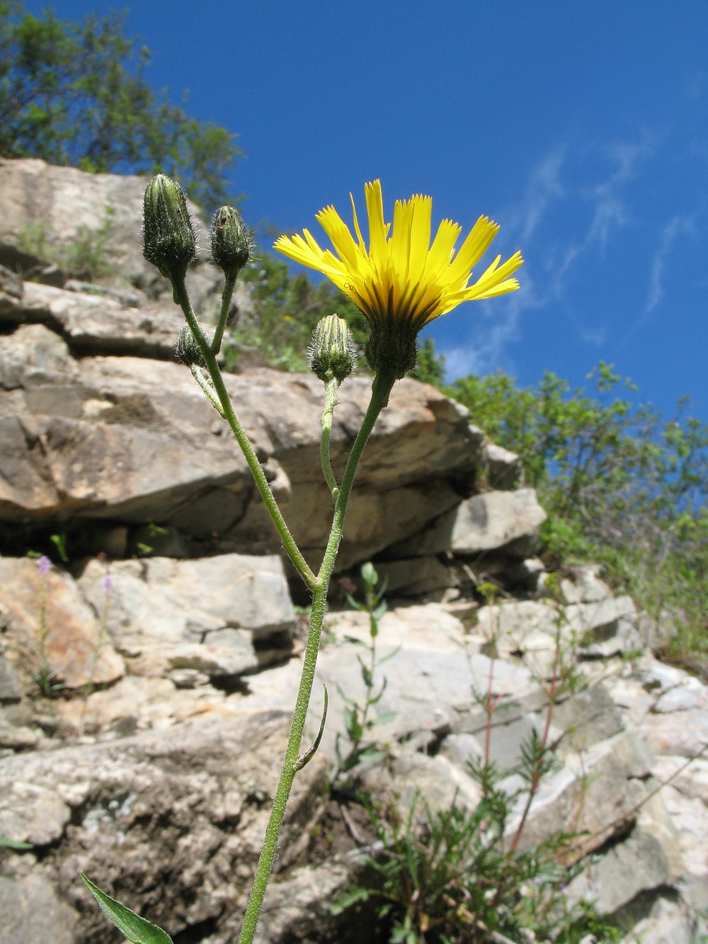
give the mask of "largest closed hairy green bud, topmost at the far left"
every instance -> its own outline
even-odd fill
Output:
[[[195,251],[187,196],[177,181],[158,174],[145,188],[143,256],[174,282],[184,278]]]

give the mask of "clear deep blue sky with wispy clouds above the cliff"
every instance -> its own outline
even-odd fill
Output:
[[[522,288],[431,326],[451,377],[584,384],[603,359],[708,419],[705,0],[135,0],[126,32],[157,89],[239,134],[251,224],[316,233],[374,177],[389,218],[423,193],[434,223],[497,220]]]

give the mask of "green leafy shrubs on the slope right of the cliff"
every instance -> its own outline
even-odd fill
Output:
[[[617,396],[612,365],[600,362],[590,377],[594,396],[551,373],[535,388],[497,373],[445,389],[521,457],[548,511],[546,551],[604,563],[649,613],[673,616],[682,649],[704,648],[708,426],[686,415],[685,398],[668,421],[649,405],[632,406]]]

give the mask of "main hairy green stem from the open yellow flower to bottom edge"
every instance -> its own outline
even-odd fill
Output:
[[[388,397],[395,380],[395,377],[381,376],[379,374],[374,378],[374,383],[371,388],[371,400],[363,418],[362,428],[357,434],[357,438],[354,441],[346,463],[345,474],[334,509],[334,519],[329,533],[327,549],[325,550],[320,572],[317,575],[317,580],[312,590],[310,630],[308,631],[307,642],[305,644],[302,676],[297,690],[295,711],[293,712],[293,720],[288,735],[288,746],[285,749],[285,759],[280,772],[278,789],[276,790],[276,796],[273,801],[273,809],[271,810],[268,825],[265,828],[261,858],[259,859],[258,868],[256,868],[253,888],[248,899],[248,904],[246,905],[244,923],[241,928],[238,944],[252,944],[253,937],[256,934],[256,925],[258,924],[259,915],[261,914],[261,905],[263,903],[265,889],[268,886],[271,869],[273,868],[276,857],[278,837],[285,816],[285,808],[288,803],[288,798],[290,797],[293,781],[295,780],[295,773],[297,772],[300,741],[302,740],[302,733],[305,729],[305,718],[307,717],[308,707],[310,705],[314,670],[317,665],[317,652],[319,651],[320,636],[322,635],[322,621],[327,612],[329,580],[334,570],[337,551],[342,541],[346,505],[349,500],[349,495],[351,494],[357,466],[362,458],[363,447],[366,445],[366,441],[369,438],[371,430],[374,428],[374,423],[379,413],[388,403]]]

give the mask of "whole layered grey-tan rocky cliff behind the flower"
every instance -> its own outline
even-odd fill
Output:
[[[176,940],[235,940],[299,673],[304,599],[228,427],[175,362],[181,318],[139,249],[143,185],[0,161],[0,836],[31,844],[0,849],[8,944],[120,938],[77,868]],[[69,271],[77,243],[93,271]],[[203,256],[189,278],[208,321],[219,280]],[[318,564],[331,512],[322,384],[253,367],[227,385]],[[341,389],[335,469],[367,388],[355,376]],[[692,939],[708,903],[708,762],[681,765],[708,743],[708,690],[654,658],[659,628],[597,568],[548,582],[535,556],[544,519],[514,455],[474,417],[429,386],[396,385],[347,518],[318,669],[329,726],[296,781],[263,944],[345,939],[324,902],[346,882],[357,831],[329,853],[313,836],[333,816],[337,688],[361,694],[367,618],[341,606],[368,560],[392,604],[381,654],[396,652],[380,705],[390,763],[368,785],[474,805],[466,760],[482,750],[489,690],[511,790],[560,639],[579,682],[554,711],[557,767],[525,841],[578,831],[598,856],[571,898],[634,924],[628,942]],[[52,540],[70,563],[25,556]]]

